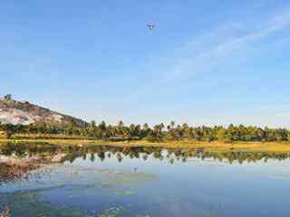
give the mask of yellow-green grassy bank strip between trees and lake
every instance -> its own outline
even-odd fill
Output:
[[[179,148],[204,148],[205,151],[251,151],[251,152],[290,152],[290,143],[278,142],[200,142],[193,140],[149,142],[146,140],[110,142],[104,140],[88,139],[0,139],[0,145],[7,142],[12,143],[43,143],[59,146],[158,146],[158,147],[179,147]]]

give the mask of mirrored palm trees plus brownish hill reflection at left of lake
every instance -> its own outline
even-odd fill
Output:
[[[289,153],[271,152],[205,152],[203,148],[160,148],[143,146],[53,146],[43,144],[13,144],[8,143],[0,146],[0,185],[3,182],[26,179],[32,171],[39,172],[43,165],[63,164],[82,158],[95,162],[115,158],[122,162],[125,158],[157,159],[173,165],[186,163],[190,159],[207,160],[213,159],[228,164],[234,162],[242,165],[244,162],[256,163],[267,162],[269,159],[285,160],[290,157]],[[43,171],[42,171],[43,173]]]

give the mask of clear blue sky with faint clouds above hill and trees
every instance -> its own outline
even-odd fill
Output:
[[[0,94],[98,122],[290,127],[289,1],[9,0],[0,21]]]

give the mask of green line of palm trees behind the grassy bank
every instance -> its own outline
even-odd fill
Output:
[[[281,142],[290,141],[290,130],[286,128],[269,128],[253,126],[234,126],[228,127],[189,127],[188,124],[177,125],[171,121],[169,125],[163,123],[150,127],[149,124],[126,126],[120,121],[117,125],[107,124],[102,121],[97,124],[92,121],[83,127],[75,123],[69,125],[55,125],[48,123],[35,123],[31,125],[11,125],[1,124],[0,131],[6,137],[15,134],[26,135],[59,135],[65,137],[87,137],[92,139],[104,139],[113,141],[122,140],[148,140],[152,142],[196,140],[196,141],[260,141],[260,142]]]

